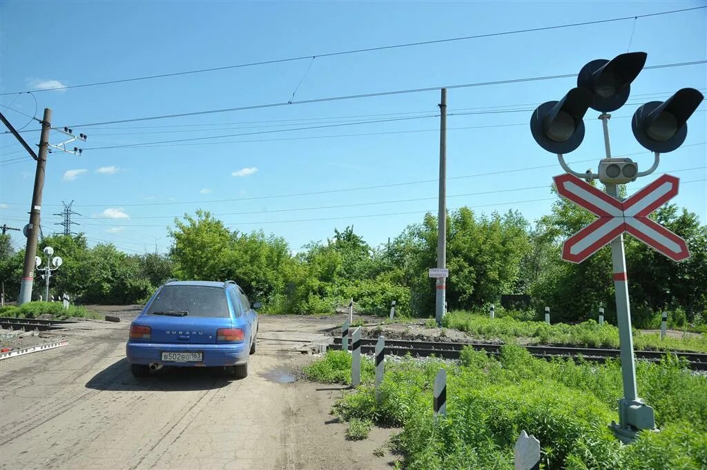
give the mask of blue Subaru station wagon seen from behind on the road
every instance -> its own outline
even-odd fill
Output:
[[[133,375],[170,365],[225,367],[246,377],[259,307],[233,281],[168,281],[130,325],[125,352]]]

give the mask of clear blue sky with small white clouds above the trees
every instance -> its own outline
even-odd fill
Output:
[[[73,86],[705,5],[703,1],[6,0],[0,3],[0,91]],[[425,211],[436,213],[438,90],[123,124],[76,124],[287,102],[296,88],[294,100],[310,100],[575,74],[592,59],[611,59],[626,52],[629,43],[631,51],[648,52],[647,66],[701,61],[707,59],[706,18],[706,9],[701,9],[203,74],[37,91],[33,96],[38,117],[44,107],[50,107],[54,127],[72,125],[75,134],[89,136],[80,157],[49,155],[42,227],[45,234],[61,230],[54,225],[59,217],[52,214],[61,211],[62,201],[74,200],[74,211],[82,214],[74,217],[81,223],[74,230],[86,233],[92,245],[113,242],[129,253],[151,252],[155,247],[166,252],[171,241],[166,228],[173,217],[194,213],[197,208],[217,214],[232,229],[262,229],[283,236],[293,250],[312,240],[326,240],[334,228],[346,225],[354,225],[356,233],[378,245],[399,235],[406,225],[421,221]],[[551,177],[562,171],[554,155],[532,139],[528,110],[544,101],[559,100],[573,86],[573,78],[561,78],[450,89],[448,207],[466,205],[479,213],[513,208],[530,221],[548,213]],[[647,168],[652,157],[633,138],[629,117],[643,102],[664,100],[684,87],[704,93],[707,67],[643,71],[633,83],[631,104],[612,113],[613,154],[632,155],[641,168]],[[1,108],[16,127],[29,120],[20,113],[35,113],[33,96],[0,96],[1,104],[18,111]],[[706,109],[703,104],[694,114],[684,146],[664,155],[658,172],[681,178],[684,184],[674,201],[698,213],[703,222],[707,221]],[[489,110],[504,112],[461,114]],[[414,119],[399,119],[403,117]],[[596,117],[597,112],[588,112],[585,141],[567,155],[568,160],[582,162],[575,170],[596,168],[603,156],[601,125]],[[361,124],[371,120],[387,122]],[[337,127],[284,130],[332,124]],[[36,128],[36,122],[30,123],[25,131]],[[226,134],[250,135],[115,148]],[[23,136],[35,145],[39,132],[28,131]],[[52,143],[60,142],[61,137],[53,132]],[[101,149],[91,150],[97,147]],[[1,134],[0,160],[5,163],[0,163],[0,225],[22,227],[27,222],[35,165],[29,157],[13,160],[25,155],[13,136]],[[474,176],[484,173],[496,174]],[[654,178],[639,180],[629,190]],[[329,192],[373,186],[377,187]],[[320,194],[272,197],[312,192]],[[13,233],[13,245],[24,245],[21,234]]]

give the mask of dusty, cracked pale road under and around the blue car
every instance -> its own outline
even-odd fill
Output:
[[[78,325],[69,346],[0,361],[0,469],[390,469],[388,435],[344,439],[341,387],[289,382],[337,319],[261,317],[249,376],[130,374],[127,322]],[[308,336],[309,335],[309,336]],[[284,382],[284,383],[281,383]]]

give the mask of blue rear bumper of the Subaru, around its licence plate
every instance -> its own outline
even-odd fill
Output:
[[[170,344],[132,343],[125,346],[125,355],[131,364],[162,364],[177,367],[211,367],[247,363],[250,345],[247,341],[235,344]],[[200,363],[176,363],[162,360],[162,353],[203,353]]]

